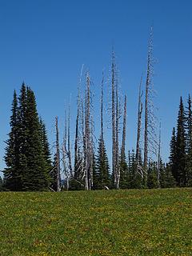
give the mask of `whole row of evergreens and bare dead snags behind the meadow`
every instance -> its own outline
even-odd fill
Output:
[[[153,40],[148,47],[146,82],[138,88],[138,121],[135,149],[126,154],[126,95],[120,99],[118,68],[112,51],[110,65],[109,117],[111,126],[111,167],[104,131],[104,86],[100,96],[100,135],[94,135],[93,93],[90,74],[82,72],[78,85],[74,143],[71,141],[70,106],[66,111],[64,136],[60,146],[58,117],[55,118],[55,154],[52,158],[46,126],[39,117],[33,90],[25,83],[20,94],[14,91],[10,133],[6,140],[1,190],[99,190],[142,189],[192,185],[191,98],[187,106],[180,100],[177,127],[170,141],[170,161],[162,162],[161,127],[157,136],[153,94]],[[144,101],[143,101],[143,97]],[[68,113],[67,113],[68,112]],[[142,120],[143,119],[143,120]],[[142,134],[142,126],[144,132]],[[142,137],[143,142],[142,142]],[[95,142],[96,141],[96,142]],[[73,149],[73,150],[71,150]]]

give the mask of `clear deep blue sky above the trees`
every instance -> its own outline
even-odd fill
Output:
[[[0,169],[9,132],[10,104],[22,81],[34,90],[38,112],[54,142],[54,117],[63,125],[72,98],[72,125],[78,75],[90,70],[95,101],[102,69],[106,77],[112,44],[117,55],[122,94],[128,98],[127,148],[135,146],[138,82],[146,70],[147,41],[154,25],[154,86],[162,119],[162,155],[167,159],[180,95],[191,93],[192,2],[0,0]],[[191,93],[192,94],[192,93]],[[95,116],[98,116],[96,111]],[[98,127],[96,127],[98,131]],[[74,136],[74,130],[72,131]],[[109,142],[110,130],[106,129]],[[109,142],[110,144],[110,142]]]

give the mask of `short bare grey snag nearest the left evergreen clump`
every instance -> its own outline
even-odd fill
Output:
[[[60,172],[60,149],[59,149],[59,134],[58,134],[58,117],[55,118],[56,130],[56,165],[57,165],[57,191],[61,190],[61,172]]]

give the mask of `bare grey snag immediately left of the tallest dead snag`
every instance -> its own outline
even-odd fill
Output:
[[[138,171],[142,174],[142,166],[140,166],[140,138],[141,138],[141,130],[142,130],[142,78],[139,85],[138,90],[138,128],[137,128],[137,144],[136,144],[136,154],[135,161],[137,163],[137,173]],[[142,174],[143,176],[143,174]]]

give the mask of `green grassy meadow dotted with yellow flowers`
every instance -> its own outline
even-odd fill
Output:
[[[192,255],[192,189],[2,192],[0,255]]]

